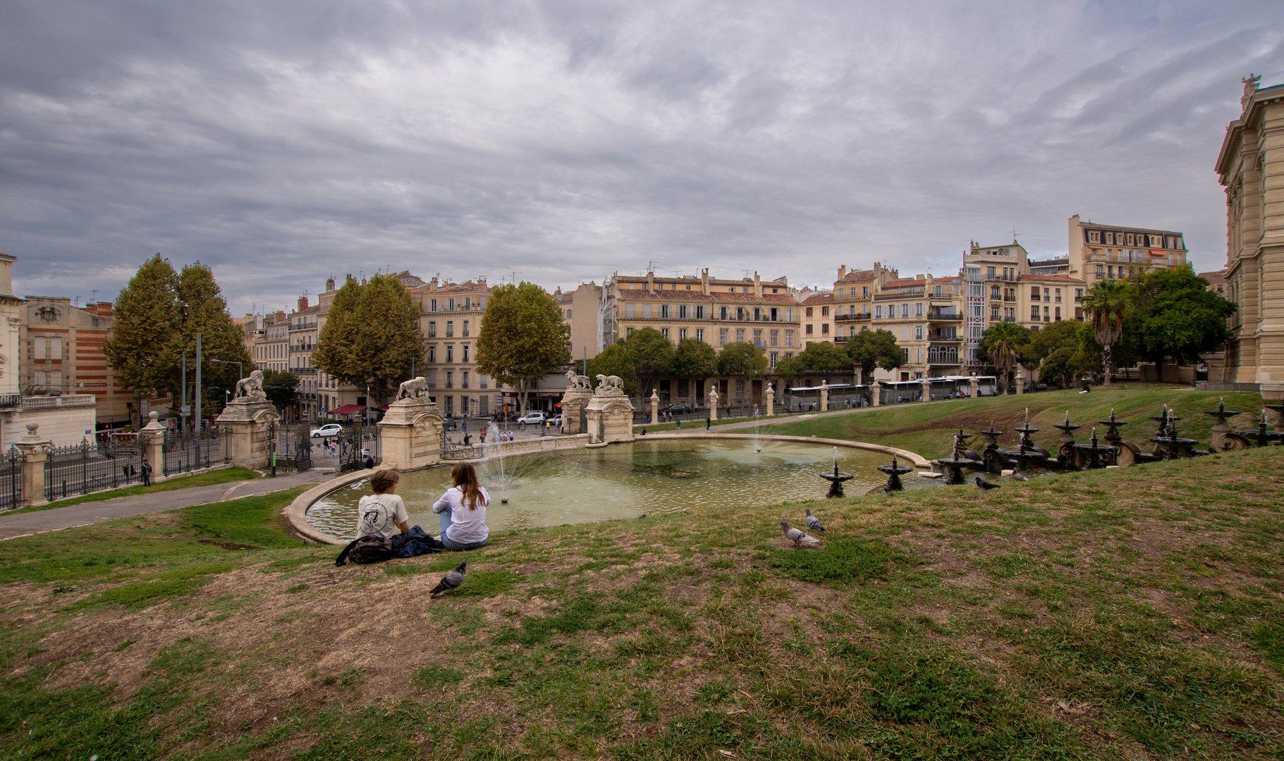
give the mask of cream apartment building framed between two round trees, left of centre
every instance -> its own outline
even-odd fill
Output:
[[[488,416],[503,408],[503,390],[476,370],[476,338],[490,290],[482,278],[438,282],[437,277],[411,290],[420,304],[425,343],[415,373],[428,379],[447,417]]]

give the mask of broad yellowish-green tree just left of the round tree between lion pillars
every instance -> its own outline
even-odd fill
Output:
[[[348,281],[334,295],[312,364],[340,382],[365,386],[372,397],[410,377],[411,357],[424,352],[419,305],[395,277]],[[478,339],[480,358],[482,340]],[[369,400],[367,400],[369,402]]]

